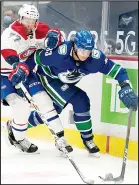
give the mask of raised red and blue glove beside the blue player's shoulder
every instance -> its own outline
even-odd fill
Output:
[[[46,34],[44,45],[46,48],[48,47],[52,50],[61,44],[62,39],[63,37],[61,32],[58,29],[53,28],[49,30],[48,33]]]

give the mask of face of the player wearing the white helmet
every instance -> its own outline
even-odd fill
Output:
[[[30,19],[28,17],[23,17],[21,20],[21,23],[24,25],[24,28],[26,30],[26,33],[30,33],[33,28],[35,28],[36,20]]]

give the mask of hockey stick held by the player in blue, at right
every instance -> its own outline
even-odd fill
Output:
[[[107,173],[105,175],[105,177],[99,176],[103,181],[114,181],[115,184],[116,183],[122,183],[124,181],[126,161],[127,161],[127,153],[128,153],[128,143],[129,143],[129,136],[130,136],[130,129],[131,129],[131,121],[132,121],[132,112],[133,112],[133,110],[132,110],[132,108],[130,108],[121,174],[120,174],[119,177],[113,177],[112,173]]]

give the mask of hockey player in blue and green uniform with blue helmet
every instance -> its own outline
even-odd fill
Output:
[[[78,31],[73,42],[64,42],[53,51],[37,50],[25,65],[30,71],[37,65],[37,75],[58,113],[68,103],[72,104],[74,122],[91,154],[98,153],[99,148],[93,141],[90,100],[83,90],[75,86],[85,75],[100,72],[117,80],[121,86],[120,100],[127,108],[132,106],[134,111],[137,110],[137,96],[130,86],[126,70],[94,48],[94,39],[89,31]],[[20,81],[16,77],[16,82]],[[39,122],[42,123],[41,120]]]

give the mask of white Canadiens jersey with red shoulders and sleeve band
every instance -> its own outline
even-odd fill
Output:
[[[26,36],[23,25],[15,21],[1,35],[1,75],[8,76],[12,66],[6,62],[10,56],[19,57],[25,61],[36,49],[43,48],[44,38],[49,26],[39,23],[32,35]]]

